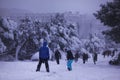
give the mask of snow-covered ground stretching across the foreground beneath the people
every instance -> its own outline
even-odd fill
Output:
[[[0,80],[120,80],[120,66],[109,65],[109,59],[100,56],[96,65],[92,59],[86,64],[79,59],[73,62],[72,71],[67,70],[65,60],[60,60],[60,65],[49,61],[49,73],[44,64],[41,71],[36,72],[38,62],[0,62]]]

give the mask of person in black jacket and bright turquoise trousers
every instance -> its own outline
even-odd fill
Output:
[[[73,54],[72,54],[71,50],[67,50],[67,69],[69,71],[72,70],[73,59],[74,59],[74,57],[73,57]]]

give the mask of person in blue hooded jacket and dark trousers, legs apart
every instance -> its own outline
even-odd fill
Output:
[[[46,71],[49,72],[49,48],[47,47],[47,42],[43,43],[43,46],[39,49],[39,63],[37,65],[37,71],[40,71],[40,67],[42,63],[45,63]]]

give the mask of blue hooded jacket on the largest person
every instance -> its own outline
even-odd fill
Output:
[[[43,46],[39,49],[39,59],[49,59],[49,49],[47,42],[43,43]]]

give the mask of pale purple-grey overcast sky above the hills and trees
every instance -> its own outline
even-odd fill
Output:
[[[0,8],[19,8],[35,13],[79,11],[94,13],[100,7],[112,0],[0,0]]]

